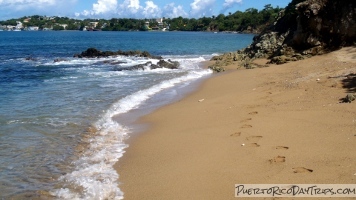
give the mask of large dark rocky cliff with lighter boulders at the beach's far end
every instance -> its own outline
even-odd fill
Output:
[[[351,0],[293,0],[276,22],[253,39],[245,49],[212,58],[213,66],[268,58],[283,64],[324,54],[356,43],[356,2]],[[252,64],[251,64],[252,63]]]

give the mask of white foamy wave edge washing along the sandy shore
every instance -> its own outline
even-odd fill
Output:
[[[181,62],[186,62],[185,66],[191,68],[193,63],[196,64],[200,60],[201,58],[193,61],[181,60]],[[130,129],[114,121],[113,117],[138,108],[162,90],[212,73],[204,69],[187,71],[184,76],[162,81],[126,96],[105,111],[94,124],[97,131],[90,139],[87,151],[73,163],[75,170],[60,177],[65,186],[51,193],[60,199],[123,199],[123,192],[117,187],[119,175],[113,166],[128,147],[124,140],[128,137]],[[78,193],[73,188],[81,188],[83,192]]]

